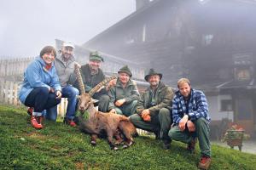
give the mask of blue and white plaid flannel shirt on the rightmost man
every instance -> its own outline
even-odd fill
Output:
[[[174,124],[178,124],[186,114],[186,105],[183,99],[183,95],[179,91],[175,93],[176,95],[172,99],[172,118]],[[189,119],[191,121],[196,120],[200,117],[204,117],[207,122],[211,121],[208,115],[208,105],[206,95],[200,90],[195,90],[191,88],[191,94],[189,99]]]

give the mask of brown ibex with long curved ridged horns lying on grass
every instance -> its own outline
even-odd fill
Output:
[[[108,144],[110,145],[111,149],[118,150],[118,147],[113,142],[113,136],[117,135],[117,133],[120,131],[125,136],[125,145],[123,147],[129,147],[133,143],[132,135],[137,134],[136,127],[133,126],[128,117],[96,111],[93,104],[95,100],[91,98],[91,96],[93,96],[98,89],[102,88],[102,86],[104,86],[107,82],[116,77],[106,78],[104,81],[96,85],[95,88],[92,88],[88,94],[86,94],[84,91],[84,83],[77,65],[75,72],[81,92],[79,95],[79,111],[82,115],[85,111],[89,113],[89,116],[86,117],[86,119],[84,119],[84,116],[79,116],[79,128],[84,133],[90,133],[90,144],[96,144],[97,135],[107,133]]]

